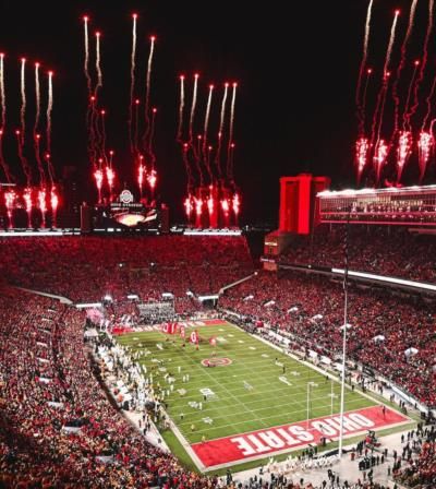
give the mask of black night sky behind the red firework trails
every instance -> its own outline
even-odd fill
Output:
[[[53,162],[58,175],[62,166],[78,167],[83,189],[93,187],[86,155],[82,15],[90,16],[90,33],[95,28],[102,32],[101,96],[109,112],[108,146],[117,152],[116,168],[129,178],[133,167],[125,119],[134,11],[140,14],[141,67],[148,55],[148,36],[157,35],[152,85],[152,102],[159,109],[155,147],[159,191],[174,216],[182,214],[186,184],[174,140],[181,72],[201,73],[203,97],[209,82],[239,82],[235,180],[245,220],[275,218],[280,176],[300,171],[328,175],[336,188],[354,180],[354,91],[367,0],[2,0],[0,5],[9,127],[15,129],[19,123],[19,59],[24,55],[56,72]],[[378,64],[383,64],[397,5],[405,8],[405,17],[410,1],[375,1],[371,56]],[[29,69],[28,98],[33,95],[32,73]],[[12,162],[14,158],[11,154]]]

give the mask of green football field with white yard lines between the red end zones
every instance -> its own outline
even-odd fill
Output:
[[[186,327],[186,339],[192,331]],[[307,406],[308,418],[339,413],[338,382],[231,324],[201,326],[196,331],[201,337],[198,350],[187,341],[182,347],[178,334],[158,331],[117,337],[131,351],[146,351],[138,360],[146,366],[145,375],[153,372],[155,390],[169,392],[165,397],[168,415],[189,443],[203,437],[213,440],[302,421],[307,419]],[[211,336],[217,337],[215,347],[209,344]],[[202,360],[221,358],[231,363],[202,365]],[[165,379],[167,373],[174,378],[172,392]],[[183,382],[183,375],[189,375],[189,381]],[[209,394],[206,401],[204,392]],[[202,409],[194,403],[202,403]],[[346,390],[346,412],[374,404]]]

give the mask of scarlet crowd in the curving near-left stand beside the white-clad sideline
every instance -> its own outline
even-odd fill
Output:
[[[1,487],[215,485],[114,412],[93,374],[83,313],[4,287],[0,294]]]

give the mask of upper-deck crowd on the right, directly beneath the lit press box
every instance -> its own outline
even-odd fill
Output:
[[[343,266],[346,225],[322,225],[313,235],[295,238],[280,262],[283,264]],[[434,235],[412,234],[401,226],[350,225],[348,262],[350,270],[435,282]]]

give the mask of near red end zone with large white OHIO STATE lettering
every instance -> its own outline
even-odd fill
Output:
[[[377,430],[408,420],[408,417],[389,408],[386,408],[384,415],[382,406],[366,407],[346,413],[343,434],[350,438],[367,430]],[[194,443],[191,448],[203,465],[209,468],[300,449],[308,443],[318,444],[323,437],[327,441],[336,440],[339,437],[339,416],[325,416],[311,419],[308,425],[306,421],[300,421],[234,437],[219,438],[204,443]]]

